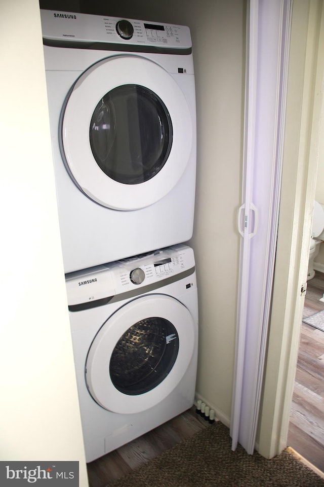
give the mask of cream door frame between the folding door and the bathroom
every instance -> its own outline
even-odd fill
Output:
[[[294,0],[276,267],[257,437],[259,453],[266,458],[287,446],[319,140],[324,135],[323,45],[323,0]]]

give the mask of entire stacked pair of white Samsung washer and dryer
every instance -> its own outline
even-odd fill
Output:
[[[41,10],[87,462],[188,409],[198,311],[188,27]]]

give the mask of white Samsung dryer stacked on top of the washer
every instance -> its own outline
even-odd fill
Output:
[[[41,18],[65,272],[187,241],[189,28],[51,10]]]

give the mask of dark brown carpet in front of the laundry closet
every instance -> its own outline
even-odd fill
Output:
[[[324,479],[284,451],[272,460],[231,450],[222,423],[199,431],[106,487],[324,487]]]

